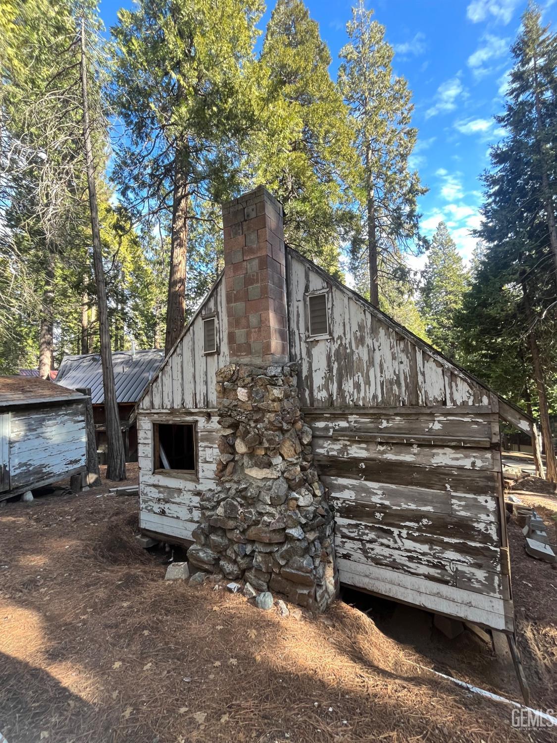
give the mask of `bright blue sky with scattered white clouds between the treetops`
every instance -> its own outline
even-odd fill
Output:
[[[336,78],[351,2],[306,4],[328,42],[330,72]],[[116,22],[121,6],[131,7],[131,2],[101,0],[107,27]],[[423,230],[431,236],[440,219],[446,221],[465,259],[475,246],[469,230],[479,224],[479,176],[489,165],[489,145],[501,136],[493,115],[504,103],[505,76],[512,64],[509,46],[526,6],[526,0],[366,2],[394,47],[395,74],[408,80],[413,93],[413,124],[419,136],[411,166],[430,189],[420,201]],[[262,29],[272,7],[261,21]],[[557,0],[541,0],[541,7],[544,22],[553,25]],[[412,263],[420,267],[423,259]]]

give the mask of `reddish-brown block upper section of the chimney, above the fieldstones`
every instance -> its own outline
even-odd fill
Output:
[[[223,204],[231,363],[289,360],[282,205],[264,186]]]

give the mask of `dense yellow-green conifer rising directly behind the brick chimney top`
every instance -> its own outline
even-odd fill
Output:
[[[248,162],[284,205],[287,242],[331,273],[351,222],[345,181],[355,158],[330,52],[302,0],[278,0],[259,62],[262,122]]]

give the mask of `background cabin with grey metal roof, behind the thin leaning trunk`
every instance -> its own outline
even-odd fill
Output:
[[[146,386],[163,363],[164,353],[157,348],[146,351],[114,351],[112,368],[120,427],[126,461],[137,461],[137,424],[135,407]],[[100,354],[65,356],[60,364],[56,383],[71,389],[91,389],[97,457],[106,462],[105,392],[102,387]]]

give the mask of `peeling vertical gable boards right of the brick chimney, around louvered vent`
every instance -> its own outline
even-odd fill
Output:
[[[287,251],[290,355],[300,364],[302,404],[478,406],[489,394],[443,357]],[[330,337],[309,334],[307,297],[326,290]]]

